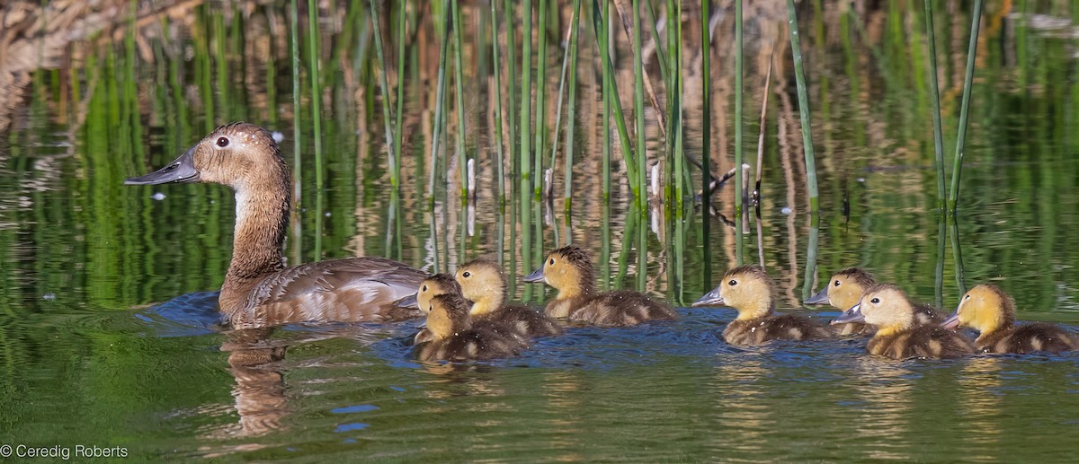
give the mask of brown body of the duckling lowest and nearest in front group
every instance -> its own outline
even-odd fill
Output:
[[[527,342],[514,334],[474,327],[419,346],[416,357],[420,361],[484,361],[515,356],[525,348]]]

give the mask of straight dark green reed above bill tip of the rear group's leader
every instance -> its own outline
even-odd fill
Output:
[[[712,196],[709,195],[712,180],[712,40],[708,29],[708,20],[712,16],[711,0],[700,0],[700,70],[702,79],[700,81],[700,107],[701,107],[701,143],[700,143],[700,211],[704,216],[701,221],[701,235],[705,239],[704,263],[705,271],[702,285],[707,287],[712,284],[712,251],[708,245],[711,237],[711,211]]]

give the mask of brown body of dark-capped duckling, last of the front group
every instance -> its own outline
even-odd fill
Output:
[[[604,327],[624,327],[677,318],[678,314],[669,306],[628,290],[596,295],[570,314],[571,321]]]

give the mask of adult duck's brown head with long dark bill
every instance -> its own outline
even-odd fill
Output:
[[[267,129],[248,123],[220,126],[164,168],[124,181],[126,185],[213,182],[235,191],[284,187],[285,159]]]

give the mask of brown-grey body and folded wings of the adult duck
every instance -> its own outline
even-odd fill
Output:
[[[237,289],[222,289],[221,304],[235,328],[292,322],[395,321],[422,315],[395,308],[427,277],[381,257],[309,263],[273,272]],[[233,308],[227,301],[235,300]]]

